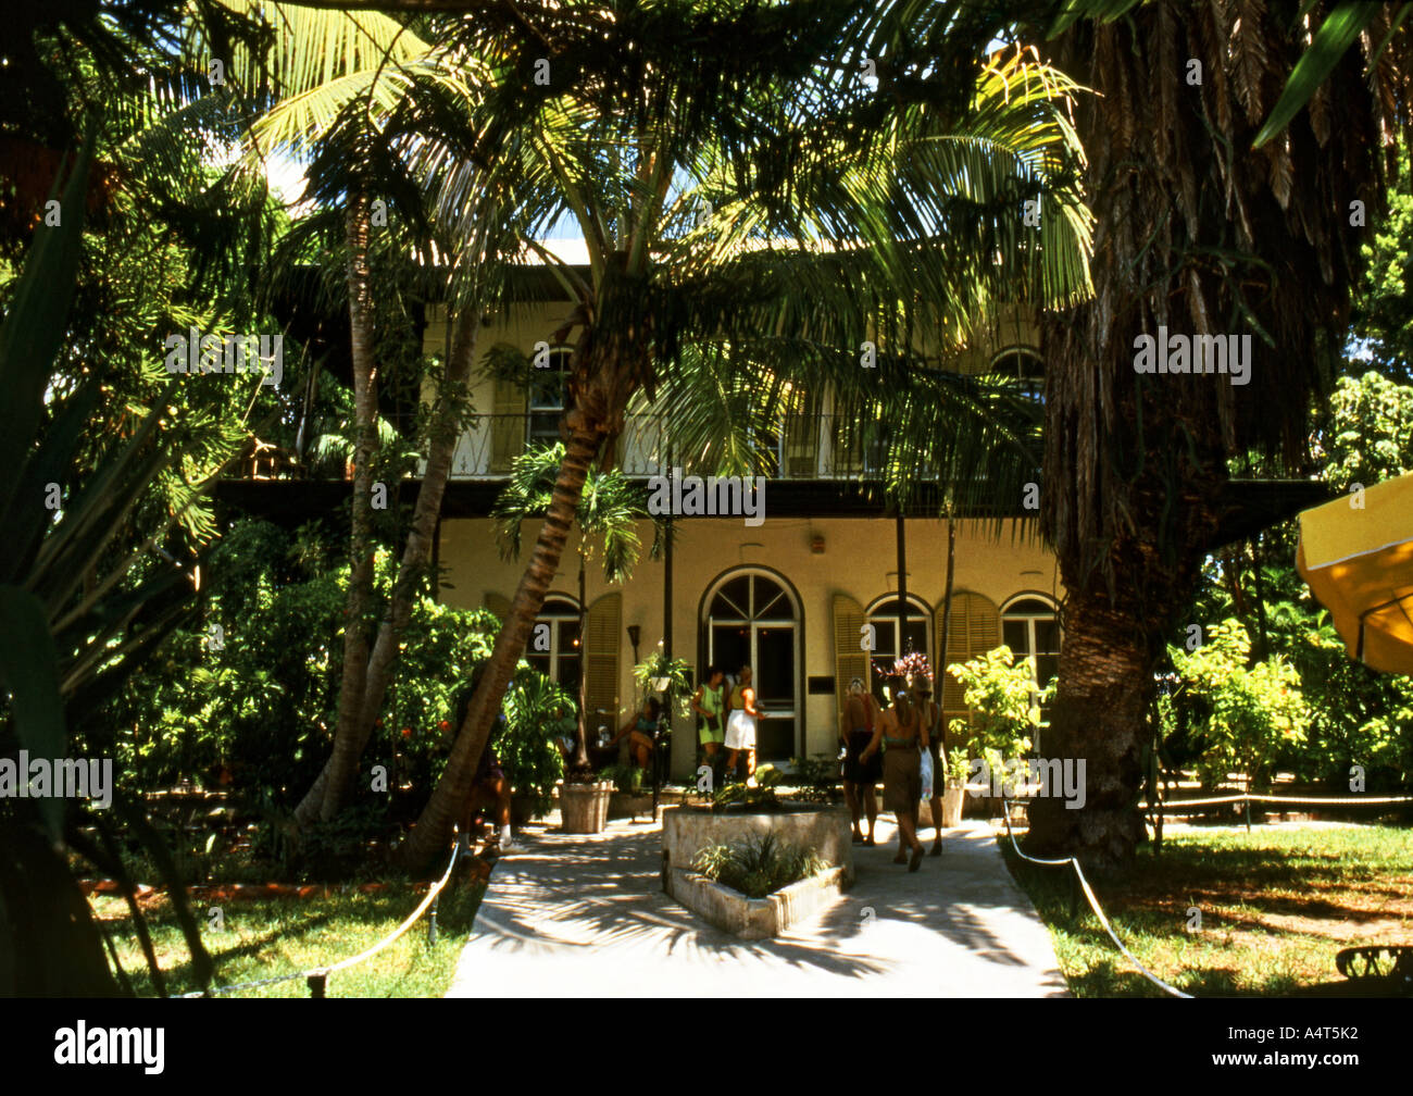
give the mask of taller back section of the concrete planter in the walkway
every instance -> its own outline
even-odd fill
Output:
[[[697,853],[706,846],[738,844],[767,833],[781,844],[812,849],[825,864],[842,868],[845,887],[853,882],[853,840],[845,808],[801,803],[786,810],[718,815],[675,806],[663,810],[663,890],[671,894],[671,870],[691,873]]]

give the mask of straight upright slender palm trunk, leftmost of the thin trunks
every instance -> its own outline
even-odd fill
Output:
[[[349,595],[343,624],[343,687],[339,690],[329,789],[343,789],[357,766],[356,728],[363,716],[369,639],[365,617],[373,598],[373,451],[377,444],[377,365],[373,361],[373,296],[369,274],[369,201],[355,194],[346,214],[349,246],[349,327],[353,363],[353,518]],[[325,795],[321,815],[338,808],[339,792]],[[302,806],[302,805],[301,805]]]

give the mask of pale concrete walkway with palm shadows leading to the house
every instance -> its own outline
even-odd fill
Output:
[[[931,836],[930,832],[927,832]],[[773,940],[740,940],[660,890],[661,827],[527,834],[490,878],[448,997],[1056,997],[1050,935],[988,824],[910,874],[853,847],[853,888]],[[885,841],[887,839],[887,843]],[[928,846],[930,847],[930,846]]]

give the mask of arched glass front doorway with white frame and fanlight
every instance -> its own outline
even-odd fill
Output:
[[[702,651],[706,666],[735,675],[755,670],[759,704],[770,717],[756,734],[757,761],[788,761],[803,716],[800,682],[800,604],[793,590],[762,569],[728,571],[702,598]]]

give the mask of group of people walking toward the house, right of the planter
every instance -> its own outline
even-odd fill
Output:
[[[942,711],[933,701],[931,682],[918,677],[909,689],[906,677],[889,679],[889,706],[883,707],[863,687],[863,680],[849,682],[849,696],[839,717],[839,741],[844,744],[844,798],[853,819],[856,844],[873,844],[877,799],[873,788],[883,781],[883,809],[897,817],[897,856],[894,864],[917,871],[923,863],[923,841],[917,836],[923,802],[923,751],[941,774]],[[933,822],[937,839],[933,856],[942,854],[942,782],[933,781]],[[868,820],[863,833],[859,822]]]

